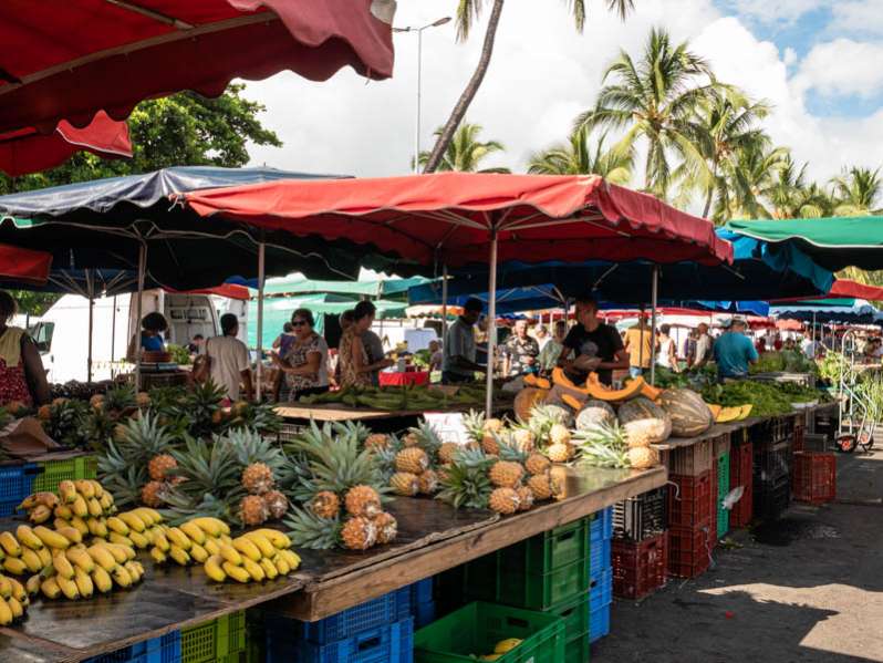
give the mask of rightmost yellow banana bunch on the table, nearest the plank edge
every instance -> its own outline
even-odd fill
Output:
[[[257,529],[221,542],[217,555],[206,560],[206,574],[216,582],[232,578],[237,582],[260,582],[288,576],[301,563],[287,535],[274,529]]]

